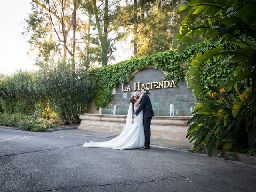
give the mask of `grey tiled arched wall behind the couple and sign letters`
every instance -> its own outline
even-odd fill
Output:
[[[154,68],[146,68],[138,71],[127,82],[124,87],[134,85],[134,82],[142,82],[144,84],[149,82],[158,82],[165,77],[164,72]],[[176,88],[160,88],[150,90],[150,99],[155,116],[170,116],[170,104],[174,106],[174,116],[191,116],[190,108],[196,106],[196,102],[192,94],[192,90],[187,88],[185,81],[178,82]],[[117,115],[126,115],[129,108],[129,98],[134,94],[132,89],[129,92],[122,92],[122,85],[119,84],[116,88],[114,99],[106,108],[102,108],[102,114],[113,114],[114,106],[116,105]]]

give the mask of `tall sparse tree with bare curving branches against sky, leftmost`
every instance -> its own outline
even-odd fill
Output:
[[[60,52],[62,58],[76,56],[76,30],[84,24],[77,16],[82,0],[32,0],[32,13],[26,20],[24,34],[30,35],[28,42],[38,48],[39,57],[48,61],[50,53]]]

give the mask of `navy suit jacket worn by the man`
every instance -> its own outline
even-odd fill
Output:
[[[154,116],[154,112],[152,109],[151,101],[148,95],[143,95],[140,106],[136,110],[135,115],[138,115],[143,109],[143,118],[149,118]]]

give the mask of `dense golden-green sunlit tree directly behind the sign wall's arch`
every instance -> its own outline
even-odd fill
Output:
[[[176,14],[180,0],[133,0],[123,6],[126,13],[120,25],[133,35],[133,57],[150,55],[172,48],[183,15]],[[127,37],[128,34],[125,36]]]

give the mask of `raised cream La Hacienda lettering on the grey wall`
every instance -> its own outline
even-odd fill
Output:
[[[122,92],[126,91],[132,91],[131,86],[128,85],[126,88],[125,85],[122,84]],[[160,89],[160,88],[168,88],[168,87],[176,87],[174,84],[174,80],[170,81],[159,81],[159,82],[151,82],[151,83],[141,83],[141,82],[135,82],[134,83],[134,91],[136,90],[142,90],[142,89]]]

